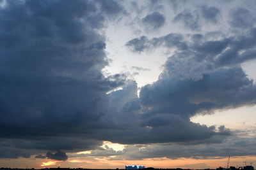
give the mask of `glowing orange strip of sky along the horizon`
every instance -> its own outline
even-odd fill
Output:
[[[143,165],[146,167],[156,168],[189,168],[189,169],[216,169],[217,167],[227,166],[227,157],[216,159],[167,159],[154,158],[143,160],[107,160],[106,158],[70,158],[66,161],[58,161],[51,159],[35,159],[35,158],[19,158],[19,159],[0,159],[1,167],[20,167],[20,168],[36,168],[44,167],[70,167],[70,168],[89,168],[89,169],[124,169],[125,165]],[[230,166],[244,166],[244,161],[247,165],[250,162],[256,164],[256,156],[246,157],[230,157]],[[252,164],[252,165],[253,165]]]

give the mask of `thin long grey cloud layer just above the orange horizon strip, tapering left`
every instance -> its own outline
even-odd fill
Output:
[[[105,157],[108,160],[140,160],[145,158],[167,157],[170,159],[218,159],[218,157],[231,157],[243,155],[255,155],[255,138],[239,138],[234,136],[220,144],[176,145],[164,143],[156,145],[126,146],[122,151],[112,148],[94,150],[83,155],[71,155],[71,157]],[[110,157],[111,156],[111,157]],[[114,157],[115,156],[115,157]]]

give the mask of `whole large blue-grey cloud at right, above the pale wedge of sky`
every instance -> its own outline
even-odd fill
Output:
[[[256,56],[255,29],[251,29],[246,36],[216,41],[201,36],[200,41],[195,41],[194,36],[192,41],[185,41],[179,34],[172,34],[170,41],[166,38],[170,37],[168,34],[145,42],[155,48],[152,41],[159,39],[162,40],[161,45],[166,47],[170,44],[170,47],[186,46],[178,46],[169,57],[158,81],[141,88],[140,101],[143,106],[151,107],[151,115],[171,112],[181,117],[192,117],[198,112],[206,114],[223,108],[255,104],[253,96],[256,87],[239,66]],[[131,45],[131,42],[128,43]],[[132,45],[135,50],[136,44]]]

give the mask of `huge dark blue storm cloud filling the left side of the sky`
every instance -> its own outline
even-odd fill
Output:
[[[101,145],[74,137],[91,133],[108,108],[106,92],[123,84],[118,75],[102,75],[106,44],[96,30],[122,7],[116,1],[7,1],[0,13],[0,134],[12,141],[7,148],[1,143],[1,157]]]

